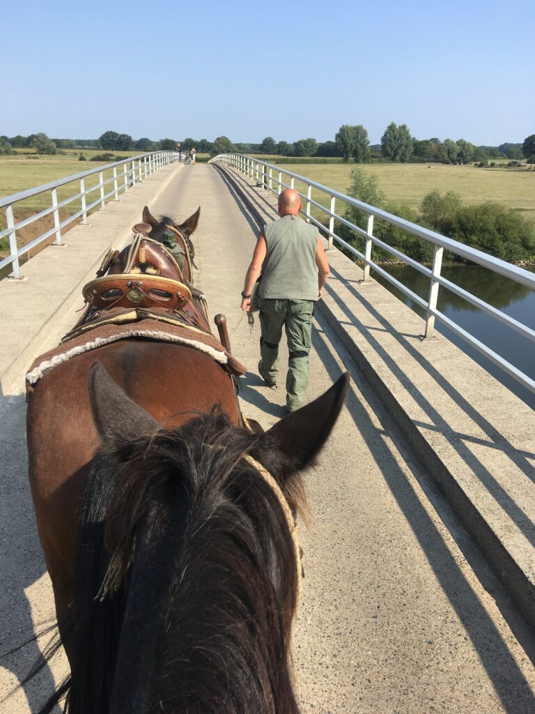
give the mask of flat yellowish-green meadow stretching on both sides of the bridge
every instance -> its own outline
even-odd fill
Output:
[[[126,159],[128,156],[138,156],[143,152],[113,151],[113,156],[117,159]],[[87,161],[79,161],[80,154],[86,156]],[[8,196],[11,193],[24,191],[26,188],[49,183],[58,178],[72,176],[83,171],[98,169],[98,166],[109,163],[107,161],[90,161],[91,156],[103,154],[102,149],[67,149],[55,156],[37,156],[31,150],[17,150],[16,154],[10,156],[0,156],[0,196]],[[206,160],[208,155],[199,155],[200,161]],[[273,164],[276,164],[280,157],[265,157]],[[350,173],[355,164],[313,164],[312,160],[303,159],[302,163],[281,166],[282,171],[292,171],[294,174],[305,176],[306,178],[322,183],[324,186],[335,188],[341,193],[347,193],[351,183]],[[377,176],[379,188],[384,191],[389,203],[406,204],[411,208],[418,208],[419,203],[426,193],[434,189],[439,191],[456,191],[462,196],[465,203],[483,203],[492,201],[502,203],[509,208],[514,208],[526,218],[535,220],[535,171],[525,169],[505,169],[499,166],[495,168],[477,168],[476,166],[450,166],[445,164],[365,164],[365,171],[369,171]],[[111,178],[113,172],[108,169],[104,172],[104,179]],[[277,172],[273,172],[274,186]],[[98,173],[86,178],[86,188],[98,185]],[[284,177],[282,181],[290,183]],[[121,179],[119,179],[121,184]],[[302,193],[306,193],[306,186],[300,181],[295,181],[295,187]],[[106,192],[111,190],[111,186],[106,187]],[[69,183],[58,188],[58,200],[78,193],[79,183]],[[96,200],[98,191],[94,191],[88,197],[88,203]],[[322,191],[314,189],[312,200],[317,201],[322,206],[329,206],[330,198]],[[46,206],[50,206],[50,193],[42,193],[38,196],[26,199],[14,207],[16,220],[21,220],[26,216],[41,211]],[[79,199],[69,203],[60,209],[63,220],[72,215],[80,208]],[[98,208],[98,206],[96,207]],[[93,209],[93,210],[96,210]],[[337,212],[344,212],[344,208],[337,205]],[[312,206],[312,215],[325,221],[325,213],[319,208]],[[24,245],[31,241],[36,235],[42,233],[52,225],[51,216],[39,221],[39,225],[31,224],[19,232],[19,245]],[[0,211],[0,226],[5,227],[4,211]],[[6,243],[6,239],[2,240]],[[0,255],[5,255],[6,245],[0,246]]]

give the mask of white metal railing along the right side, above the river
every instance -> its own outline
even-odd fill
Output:
[[[457,323],[455,323],[449,317],[444,315],[444,313],[437,310],[439,287],[443,286],[444,288],[447,288],[448,290],[452,291],[452,293],[455,293],[467,302],[476,306],[481,311],[484,311],[488,315],[491,315],[492,317],[498,319],[510,328],[516,330],[516,332],[519,332],[521,335],[528,338],[531,342],[535,343],[535,331],[532,330],[530,327],[515,320],[514,318],[509,317],[509,315],[506,315],[501,310],[494,308],[494,306],[489,305],[489,303],[486,303],[485,301],[481,300],[472,293],[469,293],[463,288],[459,288],[459,286],[447,280],[447,278],[443,278],[441,275],[442,256],[444,255],[444,250],[452,251],[452,253],[456,253],[458,256],[467,258],[469,261],[472,261],[472,263],[477,263],[480,266],[484,266],[484,268],[488,268],[494,273],[499,273],[500,275],[503,275],[506,278],[510,278],[511,280],[516,281],[516,283],[521,283],[521,285],[527,286],[528,288],[531,288],[531,290],[535,291],[534,273],[530,273],[529,271],[524,270],[524,268],[519,268],[518,266],[511,265],[511,263],[502,261],[500,258],[494,258],[488,253],[478,251],[476,248],[470,248],[469,246],[465,246],[463,243],[453,241],[451,238],[441,236],[440,233],[429,231],[428,228],[418,226],[416,223],[405,221],[404,218],[399,218],[399,216],[394,216],[392,213],[382,211],[381,208],[375,208],[374,206],[370,206],[367,203],[362,203],[362,201],[357,201],[357,199],[352,198],[352,196],[346,196],[345,193],[340,193],[340,191],[335,191],[335,189],[333,188],[323,186],[322,183],[310,181],[310,179],[305,178],[305,176],[293,174],[292,171],[286,171],[285,169],[281,169],[280,166],[275,166],[275,164],[267,164],[266,161],[260,161],[260,159],[255,159],[252,156],[245,156],[244,154],[220,154],[219,156],[215,156],[213,159],[210,159],[209,163],[216,161],[221,162],[223,164],[227,164],[233,169],[243,172],[243,174],[246,174],[250,179],[256,181],[256,183],[259,183],[268,191],[271,191],[275,194],[280,193],[283,188],[295,188],[296,180],[305,183],[305,186],[307,186],[307,193],[306,195],[304,193],[300,193],[300,196],[302,198],[302,201],[305,203],[305,209],[302,211],[302,214],[305,216],[307,221],[315,223],[318,228],[327,233],[327,237],[329,240],[329,248],[332,247],[333,241],[337,241],[337,243],[340,243],[340,245],[344,246],[347,251],[349,251],[353,255],[357,256],[357,258],[360,258],[361,261],[363,261],[364,281],[370,280],[370,268],[374,268],[374,270],[377,271],[377,273],[379,273],[379,275],[381,275],[385,280],[389,281],[389,283],[392,283],[392,285],[402,291],[402,293],[411,298],[414,303],[417,303],[417,305],[423,308],[427,313],[425,324],[425,338],[432,338],[432,336],[434,335],[434,321],[436,319],[440,323],[443,323],[444,325],[449,327],[449,329],[452,330],[455,335],[467,342],[478,352],[489,358],[491,362],[501,367],[501,369],[503,369],[507,374],[509,374],[509,376],[513,377],[516,381],[524,385],[526,388],[529,389],[529,391],[535,393],[535,381],[531,377],[524,374],[524,372],[520,371],[510,362],[506,361],[504,358],[499,356],[499,354],[487,347],[484,343],[482,343],[473,335],[465,331],[462,327],[457,325]],[[275,177],[274,174],[277,174],[277,176]],[[287,177],[285,178],[285,181],[282,180],[283,176]],[[312,188],[315,188],[317,191],[322,191],[322,193],[325,193],[326,196],[330,197],[329,208],[326,208],[325,206],[322,206],[321,203],[317,203],[317,201],[312,200]],[[340,216],[339,213],[336,213],[337,201],[339,203],[345,204],[345,206],[358,208],[361,211],[367,213],[368,220],[366,230],[360,228],[359,226],[356,226],[355,223],[348,221],[347,218],[345,218],[344,216]],[[321,223],[320,221],[317,221],[317,219],[311,215],[311,206],[315,206],[320,211],[322,211],[322,213],[325,213],[325,215],[329,217],[328,228],[324,226],[323,223]],[[387,223],[391,223],[392,226],[397,226],[398,228],[402,228],[408,233],[412,233],[413,236],[418,236],[419,238],[423,238],[424,241],[433,243],[434,258],[432,268],[427,268],[426,266],[423,266],[421,263],[418,263],[413,258],[409,258],[409,256],[406,256],[404,253],[397,251],[396,248],[392,248],[392,246],[389,246],[387,243],[384,243],[384,241],[381,241],[379,238],[376,238],[373,235],[374,218],[380,218],[382,221],[387,221]],[[365,238],[364,253],[361,253],[359,250],[357,250],[357,248],[355,248],[355,246],[350,245],[350,243],[347,243],[347,241],[343,240],[343,238],[337,236],[337,234],[335,233],[335,221],[339,221],[344,226],[351,228],[353,231],[355,231],[355,233],[358,233],[360,236],[363,236],[363,238]],[[383,248],[388,253],[391,253],[392,256],[399,258],[399,260],[403,261],[404,263],[407,263],[407,265],[411,266],[412,268],[415,268],[417,271],[423,273],[429,278],[429,296],[427,301],[423,300],[419,295],[407,288],[407,286],[404,286],[402,283],[397,281],[396,278],[393,278],[381,266],[377,265],[377,263],[374,263],[374,261],[372,260],[372,246],[374,245]]]

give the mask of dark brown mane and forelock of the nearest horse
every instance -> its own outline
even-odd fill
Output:
[[[151,538],[163,534],[167,572],[153,623],[150,689],[164,711],[297,712],[288,662],[297,605],[292,536],[277,496],[244,453],[264,463],[290,503],[300,505],[298,479],[287,488],[289,465],[275,445],[230,426],[218,411],[116,452],[123,466],[106,543],[121,577],[134,543],[142,547],[139,523],[153,519],[145,530]],[[161,526],[167,522],[175,526],[171,550]],[[161,583],[153,578],[141,587]],[[118,662],[116,676],[131,666]]]

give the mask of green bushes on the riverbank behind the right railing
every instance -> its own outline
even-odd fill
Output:
[[[507,206],[490,201],[467,206],[462,202],[459,193],[441,193],[435,190],[427,193],[419,209],[414,210],[403,204],[389,203],[377,185],[377,178],[364,169],[353,169],[351,178],[352,184],[347,193],[363,203],[382,208],[399,218],[430,228],[454,241],[509,263],[535,263],[535,223]],[[345,218],[360,228],[365,229],[367,226],[368,214],[357,208],[348,208]],[[364,253],[363,236],[343,225],[338,227],[337,233]],[[373,233],[409,258],[423,263],[432,261],[434,243],[413,236],[412,233],[378,218],[374,220]],[[391,253],[378,246],[374,246],[373,256],[376,262],[391,262],[395,259]],[[444,260],[469,263],[467,258],[450,251],[445,252]]]

